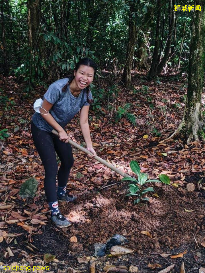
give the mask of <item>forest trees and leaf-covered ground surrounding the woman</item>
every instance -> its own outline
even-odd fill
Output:
[[[156,260],[151,251],[167,253],[169,247],[173,254],[180,253],[175,257],[179,258],[187,248],[183,261],[189,272],[204,265],[204,4],[204,0],[1,0],[0,226],[7,234],[0,234],[0,262],[24,256],[31,264],[34,253],[43,256],[48,244],[51,254],[77,268],[73,257],[91,255],[93,244],[106,242],[114,230],[129,238],[135,253],[149,253],[146,259],[164,268],[167,261]],[[136,206],[132,197],[122,198],[125,191],[122,181],[115,182],[118,175],[74,150],[67,186],[79,194],[79,204],[62,206],[75,225],[59,237],[60,231],[54,231],[45,216],[44,170],[29,126],[35,99],[50,83],[67,77],[82,57],[98,64],[89,112],[97,154],[128,173],[130,161],[137,160],[150,177],[167,174],[171,186],[154,185],[156,193],[145,197],[149,203]],[[67,132],[84,145],[77,118]],[[38,189],[25,204],[19,189],[30,177],[38,181]],[[136,238],[138,231],[149,231],[150,236]],[[18,237],[20,249],[11,234]],[[77,236],[77,242],[65,240],[71,236]],[[132,264],[139,260],[139,272],[150,271],[144,257],[133,257]],[[97,270],[103,262],[99,260]],[[128,267],[129,262],[124,261]],[[54,271],[58,266],[52,265]],[[87,272],[84,266],[81,270]],[[179,267],[181,260],[173,272]]]

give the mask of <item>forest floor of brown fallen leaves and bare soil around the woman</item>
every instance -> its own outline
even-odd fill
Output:
[[[106,72],[104,77],[106,82]],[[37,86],[28,96],[22,91],[25,84],[11,76],[1,78],[0,130],[8,129],[9,137],[0,140],[0,272],[5,272],[3,266],[11,263],[49,266],[49,270],[38,270],[39,273],[89,272],[90,260],[95,259],[96,272],[106,272],[106,265],[137,266],[140,273],[159,272],[171,264],[173,273],[194,273],[205,267],[205,191],[197,187],[201,184],[205,189],[205,145],[192,142],[187,146],[180,139],[159,142],[180,123],[186,78],[177,81],[161,77],[160,81],[152,81],[146,79],[144,72],[133,72],[132,81],[135,90],[118,86],[112,108],[107,109],[108,101],[104,99],[102,111],[90,109],[93,146],[98,156],[124,172],[134,176],[129,163],[136,160],[151,179],[164,173],[170,177],[171,185],[153,183],[154,195],[147,193],[150,201],[135,205],[133,197],[126,197],[127,183],[121,182],[120,175],[73,148],[75,163],[67,189],[78,199],[76,204],[60,203],[61,212],[72,226],[58,229],[50,222],[43,189],[44,168],[30,131],[33,103],[45,89]],[[104,82],[98,87],[108,88]],[[114,109],[125,103],[131,104],[136,126],[125,117],[115,123]],[[67,133],[83,143],[78,115],[67,126]],[[22,200],[20,186],[30,177],[38,181],[36,195]],[[195,188],[189,192],[190,182]],[[126,247],[134,252],[93,257],[94,244],[106,243],[116,233],[129,240]],[[71,242],[73,236],[77,238],[75,242]],[[55,255],[55,259],[45,264],[46,253]],[[85,263],[77,260],[82,256],[87,257]],[[182,262],[185,271],[180,271]],[[155,264],[153,269],[149,263]]]

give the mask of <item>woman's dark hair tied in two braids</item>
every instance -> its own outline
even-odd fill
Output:
[[[87,65],[87,66],[89,66],[89,67],[93,67],[93,69],[94,69],[94,76],[93,76],[93,78],[95,78],[95,74],[96,74],[96,71],[97,71],[97,64],[96,64],[93,60],[91,60],[91,59],[89,59],[89,58],[83,58],[83,59],[79,60],[79,62],[78,62],[78,63],[76,64],[76,66],[75,66],[75,71],[76,71],[76,72],[77,72],[77,70],[79,69],[80,65]],[[66,91],[67,86],[68,86],[68,85],[72,82],[72,80],[75,78],[74,74],[71,74],[71,75],[69,75],[68,77],[69,77],[69,80],[68,80],[67,84],[65,84],[65,86],[63,86],[63,88],[62,88],[62,91],[63,91],[63,92]],[[88,98],[89,92],[91,92],[91,91],[90,91],[90,86],[87,86],[87,87],[85,88],[85,91],[86,91],[86,95],[87,95],[87,102],[88,102],[89,104],[93,103],[93,100],[92,100],[92,99],[90,100],[90,99]]]

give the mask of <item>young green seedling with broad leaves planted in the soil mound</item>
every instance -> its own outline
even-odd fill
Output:
[[[158,183],[164,183],[169,185],[170,184],[170,178],[169,176],[165,174],[159,175],[159,179],[148,179],[149,175],[147,173],[141,173],[140,171],[140,165],[135,161],[132,160],[130,162],[130,168],[136,175],[138,176],[138,179],[135,179],[134,177],[124,177],[122,180],[129,180],[133,181],[134,183],[129,184],[129,190],[130,193],[128,193],[126,196],[138,196],[137,199],[134,200],[134,204],[138,204],[142,201],[149,201],[149,197],[144,197],[145,193],[151,191],[154,192],[153,187],[145,187],[146,183],[149,182],[158,182]]]

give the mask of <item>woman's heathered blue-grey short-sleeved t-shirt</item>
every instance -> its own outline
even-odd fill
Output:
[[[71,94],[69,85],[66,91],[62,91],[63,86],[67,84],[68,80],[69,78],[64,78],[53,82],[42,98],[42,100],[46,99],[53,104],[50,114],[63,129],[84,105],[90,105],[87,102],[85,88],[81,90],[78,98]],[[89,92],[88,98],[93,98],[91,92]],[[51,132],[54,129],[40,113],[35,112],[32,116],[32,121],[41,130]]]

